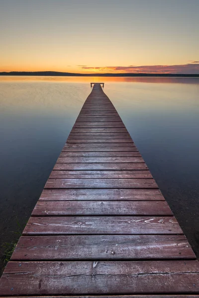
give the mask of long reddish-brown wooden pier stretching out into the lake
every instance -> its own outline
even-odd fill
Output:
[[[0,294],[199,297],[199,262],[100,83],[2,274]]]

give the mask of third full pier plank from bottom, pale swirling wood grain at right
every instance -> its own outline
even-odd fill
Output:
[[[183,234],[174,217],[31,217],[23,235]]]

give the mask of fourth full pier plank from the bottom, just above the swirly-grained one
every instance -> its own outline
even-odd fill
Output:
[[[165,201],[38,201],[32,216],[172,216],[171,209]]]

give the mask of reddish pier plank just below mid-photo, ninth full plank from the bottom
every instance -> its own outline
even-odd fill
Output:
[[[57,163],[143,163],[142,157],[58,157]]]

